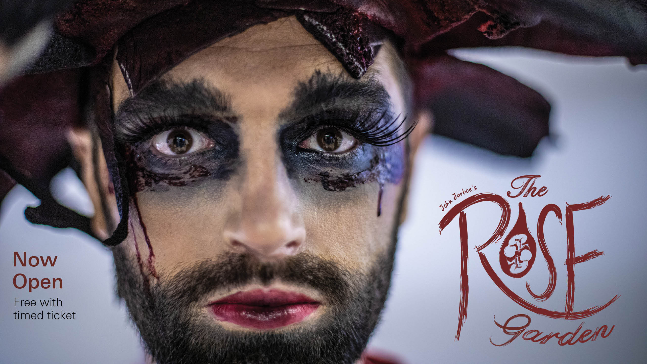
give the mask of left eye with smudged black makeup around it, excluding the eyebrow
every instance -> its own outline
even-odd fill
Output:
[[[236,168],[238,137],[228,122],[210,115],[146,113],[134,120],[126,139],[131,192],[226,180]]]

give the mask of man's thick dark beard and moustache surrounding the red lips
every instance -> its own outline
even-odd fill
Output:
[[[289,256],[280,263],[261,263],[254,256],[229,253],[205,260],[171,279],[148,288],[124,248],[115,264],[120,297],[149,353],[159,364],[353,364],[360,358],[386,301],[394,241],[368,273],[350,272],[313,255]],[[263,333],[234,332],[197,314],[197,302],[215,289],[274,279],[314,288],[329,312],[313,325]],[[211,321],[211,322],[209,322]]]

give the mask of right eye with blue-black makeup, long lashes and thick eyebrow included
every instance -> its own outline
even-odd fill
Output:
[[[295,87],[294,102],[280,119],[278,138],[289,176],[329,191],[399,181],[405,160],[399,142],[415,127],[393,113],[377,78],[358,81],[320,71]]]

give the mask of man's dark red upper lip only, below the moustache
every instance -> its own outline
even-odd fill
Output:
[[[280,307],[291,304],[313,304],[319,303],[315,299],[294,291],[282,291],[277,289],[263,290],[262,288],[250,291],[239,291],[228,295],[212,304],[244,304],[246,306],[259,307]]]

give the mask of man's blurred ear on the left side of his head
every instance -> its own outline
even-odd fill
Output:
[[[105,240],[119,223],[119,210],[101,139],[87,128],[73,128],[67,133],[67,141],[81,167],[80,177],[94,206],[93,232]]]

